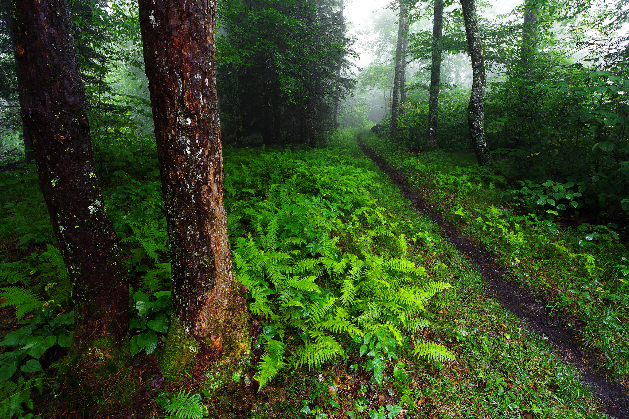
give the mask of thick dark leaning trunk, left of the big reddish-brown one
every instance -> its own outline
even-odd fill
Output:
[[[39,182],[72,282],[71,353],[127,347],[129,289],[118,237],[96,177],[86,98],[65,0],[16,0],[15,55],[21,116],[33,139]],[[71,357],[75,359],[75,357]]]

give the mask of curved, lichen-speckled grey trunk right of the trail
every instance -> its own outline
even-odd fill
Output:
[[[479,165],[493,166],[493,159],[487,147],[485,133],[484,100],[485,100],[485,62],[482,58],[481,34],[478,30],[478,19],[474,0],[460,0],[465,19],[465,33],[472,58],[472,93],[467,106],[467,123],[472,135],[474,152]]]

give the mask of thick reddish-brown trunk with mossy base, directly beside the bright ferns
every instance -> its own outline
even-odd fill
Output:
[[[250,354],[223,205],[216,3],[140,0],[139,11],[172,263],[162,367],[215,388],[239,381]]]

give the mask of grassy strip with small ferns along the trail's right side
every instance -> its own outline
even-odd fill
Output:
[[[415,156],[371,133],[362,139],[403,171],[448,221],[497,256],[516,281],[545,295],[583,347],[598,355],[598,367],[629,383],[627,253],[606,226],[584,225],[579,231],[543,212],[516,211],[501,198],[504,180],[474,166],[473,156],[440,151]]]

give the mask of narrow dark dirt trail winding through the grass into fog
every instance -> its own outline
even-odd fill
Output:
[[[410,200],[417,210],[428,215],[443,229],[445,232],[443,236],[448,238],[452,246],[469,257],[487,282],[489,290],[498,297],[503,307],[517,317],[527,320],[533,332],[547,337],[548,344],[557,355],[576,367],[583,381],[598,393],[608,415],[618,419],[629,419],[629,391],[587,365],[591,359],[579,349],[574,334],[565,329],[556,317],[548,315],[543,303],[535,301],[536,297],[538,300],[542,300],[543,297],[532,295],[515,283],[502,281],[504,274],[499,271],[494,257],[487,254],[482,246],[477,246],[462,236],[457,228],[448,223],[443,214],[428,204],[423,196],[412,192],[413,188],[406,183],[401,173],[387,165],[380,156],[373,155],[367,150],[360,140],[360,135],[362,134],[357,136],[360,149],[398,185],[404,197]]]

